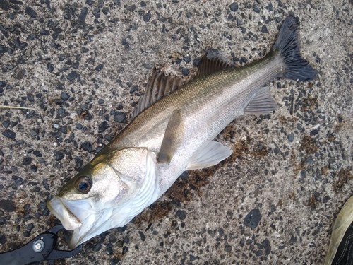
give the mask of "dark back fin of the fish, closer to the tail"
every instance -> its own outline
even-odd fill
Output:
[[[203,55],[196,73],[196,78],[201,76],[208,76],[211,73],[216,73],[223,69],[233,67],[232,60],[225,57],[218,49],[208,49]]]

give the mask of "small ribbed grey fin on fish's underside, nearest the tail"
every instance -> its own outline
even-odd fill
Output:
[[[277,109],[277,103],[270,94],[270,88],[267,86],[258,90],[253,99],[246,106],[246,114],[268,114]]]

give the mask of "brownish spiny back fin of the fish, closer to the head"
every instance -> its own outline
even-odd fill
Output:
[[[174,90],[184,86],[185,83],[186,79],[178,76],[168,76],[162,69],[160,69],[160,66],[155,66],[152,76],[148,78],[145,94],[140,97],[138,107],[136,108],[133,117],[136,117],[143,110],[157,102],[157,100],[160,100],[160,98],[163,98]]]

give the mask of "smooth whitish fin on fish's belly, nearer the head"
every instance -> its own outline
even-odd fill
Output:
[[[223,146],[216,141],[207,141],[193,155],[186,170],[198,170],[203,167],[217,165],[229,155],[232,155],[232,148]]]

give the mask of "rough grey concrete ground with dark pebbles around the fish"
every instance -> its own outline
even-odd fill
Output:
[[[131,122],[153,66],[191,74],[208,47],[256,61],[290,13],[316,81],[270,83],[280,108],[218,137],[231,158],[42,264],[323,264],[353,194],[348,0],[1,0],[0,105],[35,111],[0,109],[0,251],[58,222],[44,202]]]

